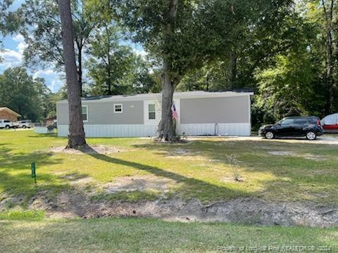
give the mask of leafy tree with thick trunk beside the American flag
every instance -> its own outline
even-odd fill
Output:
[[[214,76],[222,74],[227,80],[226,86],[238,86],[240,73],[237,63],[239,60],[248,61],[246,51],[253,48],[260,57],[258,61],[265,60],[266,52],[276,40],[265,31],[283,29],[278,26],[278,20],[284,18],[284,10],[292,1],[120,0],[118,3],[116,13],[123,14],[120,18],[134,32],[134,40],[142,43],[163,65],[162,117],[158,129],[161,138],[173,140],[170,107],[173,91],[184,76],[189,73],[199,76],[196,70],[202,66],[219,65],[226,67],[227,73],[216,71],[220,67],[215,67]],[[263,24],[265,30],[261,29]],[[259,43],[251,43],[253,38]],[[268,49],[261,53],[261,48]],[[220,63],[215,63],[215,60]],[[251,72],[256,68],[254,61],[252,67]],[[200,86],[209,89],[212,72],[206,70],[198,78],[200,81],[204,79],[201,85],[192,87],[189,84],[188,89]],[[215,87],[220,86],[214,83]]]

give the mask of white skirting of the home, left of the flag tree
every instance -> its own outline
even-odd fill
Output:
[[[157,126],[143,124],[84,124],[87,137],[145,137],[156,136]],[[58,136],[68,136],[68,125],[58,125]]]

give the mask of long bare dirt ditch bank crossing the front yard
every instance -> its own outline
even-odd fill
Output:
[[[95,202],[88,196],[63,192],[46,214],[53,218],[98,218],[104,216],[150,217],[167,221],[219,221],[279,226],[338,226],[338,209],[313,203],[265,202],[237,198],[203,205],[199,200]]]

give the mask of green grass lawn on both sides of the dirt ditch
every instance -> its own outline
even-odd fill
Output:
[[[108,200],[154,200],[156,191],[103,193],[100,186],[121,176],[152,176],[170,183],[166,197],[197,197],[204,203],[236,197],[269,201],[338,204],[337,145],[292,141],[205,138],[158,144],[147,138],[88,138],[90,145],[120,150],[111,155],[51,153],[66,138],[33,131],[0,131],[1,197],[25,203],[36,194],[56,197],[72,180],[90,178],[82,190]],[[272,155],[269,152],[282,152]],[[284,153],[283,153],[284,152]],[[37,163],[37,185],[30,163]],[[235,181],[239,176],[244,181]],[[0,212],[0,252],[227,252],[230,246],[308,246],[338,252],[338,229],[179,223],[154,219],[45,219],[44,211]],[[323,248],[320,248],[323,246]],[[257,248],[259,250],[259,248]],[[284,248],[284,252],[287,252]],[[313,249],[313,248],[310,248]],[[256,251],[259,252],[259,251]],[[262,252],[262,251],[261,251]],[[283,252],[280,250],[280,252]],[[309,252],[309,251],[308,251]],[[313,251],[310,251],[313,252]]]

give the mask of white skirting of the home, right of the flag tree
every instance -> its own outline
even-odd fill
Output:
[[[180,134],[187,136],[250,136],[251,124],[180,124]]]

